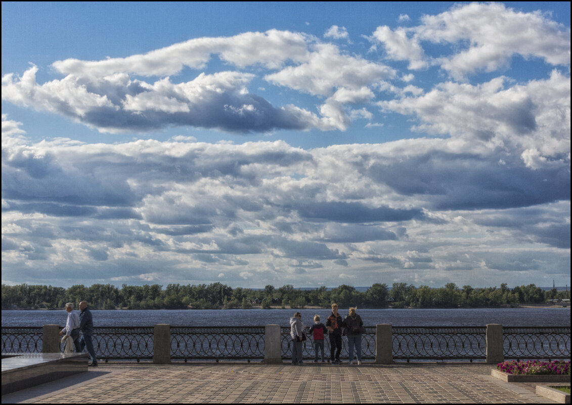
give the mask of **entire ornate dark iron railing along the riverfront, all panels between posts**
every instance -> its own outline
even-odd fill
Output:
[[[170,327],[172,359],[264,359],[265,328]],[[570,359],[570,327],[503,327],[506,359]],[[96,327],[93,344],[101,360],[152,359],[153,327]],[[289,327],[280,327],[281,357],[291,358]],[[2,352],[42,352],[42,327],[2,327]],[[392,327],[395,360],[484,360],[485,327]],[[376,327],[362,334],[362,359],[375,359]],[[63,346],[61,346],[63,350]],[[304,342],[303,356],[314,358],[312,336]],[[324,354],[329,358],[329,339]],[[348,357],[342,340],[341,358]]]

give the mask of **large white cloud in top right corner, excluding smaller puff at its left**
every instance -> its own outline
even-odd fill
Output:
[[[468,49],[438,61],[462,80],[478,70],[507,66],[514,54],[538,57],[552,65],[570,65],[570,29],[539,11],[522,13],[502,3],[458,5],[439,15],[425,15],[416,36],[430,42],[467,41]]]

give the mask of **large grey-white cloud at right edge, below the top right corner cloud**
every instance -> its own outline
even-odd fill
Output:
[[[472,146],[520,150],[531,168],[569,162],[570,79],[554,71],[547,80],[525,85],[505,89],[505,82],[503,77],[481,85],[447,82],[418,97],[378,105],[416,116],[414,129],[422,132],[458,137]]]

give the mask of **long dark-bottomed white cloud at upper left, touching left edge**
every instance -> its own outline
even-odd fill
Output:
[[[321,127],[319,117],[307,110],[293,105],[276,108],[248,93],[245,85],[253,77],[248,73],[201,73],[180,84],[169,78],[148,84],[126,76],[91,81],[70,74],[39,85],[36,72],[34,66],[21,78],[3,77],[2,100],[58,113],[100,132],[147,132],[173,125],[239,133]]]

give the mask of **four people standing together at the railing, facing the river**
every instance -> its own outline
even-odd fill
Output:
[[[320,315],[314,316],[314,324],[309,328],[312,333],[314,346],[314,362],[318,361],[318,353],[321,353],[321,361],[324,358],[324,339],[329,335],[330,362],[341,364],[341,336],[348,338],[349,366],[353,364],[353,350],[355,348],[358,364],[362,364],[362,333],[364,332],[362,318],[356,313],[356,308],[349,308],[348,315],[342,320],[337,312],[337,304],[332,304],[332,313],[328,316],[325,325],[320,321]],[[302,314],[296,312],[290,318],[290,336],[292,337],[292,364],[304,364],[302,360],[303,342],[306,340],[305,329],[302,323]]]

